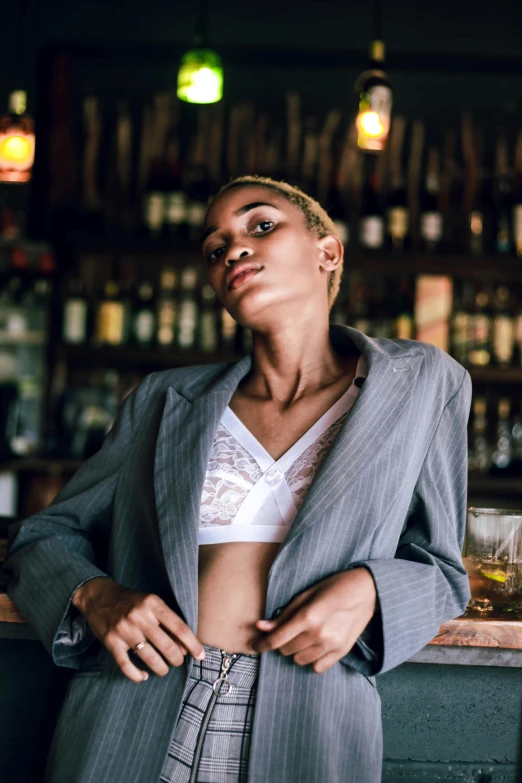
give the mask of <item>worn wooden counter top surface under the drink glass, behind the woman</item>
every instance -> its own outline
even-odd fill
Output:
[[[0,593],[0,622],[25,624],[25,619],[6,593]],[[458,617],[443,623],[430,644],[522,650],[522,617],[509,620]]]

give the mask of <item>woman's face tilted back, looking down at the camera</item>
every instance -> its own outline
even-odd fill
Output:
[[[299,318],[303,308],[328,312],[324,246],[337,240],[309,231],[283,196],[261,185],[232,188],[210,207],[203,236],[210,285],[238,323],[256,328],[283,313]],[[233,280],[244,266],[255,269]]]

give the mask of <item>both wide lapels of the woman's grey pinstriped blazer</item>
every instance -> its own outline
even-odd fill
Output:
[[[363,354],[368,377],[276,556],[318,519],[343,493],[380,448],[417,375],[422,356],[396,343],[385,350],[357,329],[330,325],[334,346],[351,341]],[[209,389],[167,388],[154,465],[159,534],[171,586],[187,625],[197,626],[198,524],[210,450],[221,416],[252,355],[230,365]],[[272,572],[271,569],[271,572]]]

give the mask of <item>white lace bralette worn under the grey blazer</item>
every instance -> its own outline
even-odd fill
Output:
[[[331,448],[367,368],[361,355],[350,388],[278,460],[230,407],[214,436],[201,495],[199,543],[283,541]],[[362,385],[362,381],[359,381]]]

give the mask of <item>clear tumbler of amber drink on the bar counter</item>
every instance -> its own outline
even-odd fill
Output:
[[[522,612],[522,511],[468,508],[463,555],[466,614]]]

